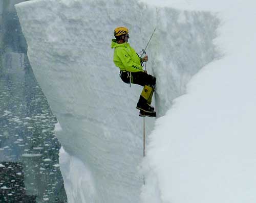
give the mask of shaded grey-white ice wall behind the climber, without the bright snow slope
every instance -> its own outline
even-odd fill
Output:
[[[31,66],[61,126],[69,202],[139,202],[143,121],[135,107],[141,87],[129,88],[118,77],[110,48],[113,29],[128,27],[139,52],[157,28],[147,47],[147,69],[161,87],[156,91],[161,116],[191,76],[219,57],[212,43],[218,20],[132,0],[37,0],[16,10]],[[146,125],[149,133],[154,119]]]

